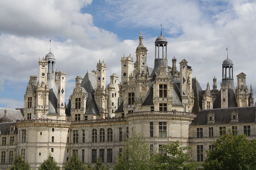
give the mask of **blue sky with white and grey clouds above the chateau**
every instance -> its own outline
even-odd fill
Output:
[[[147,65],[154,66],[155,39],[168,41],[168,65],[184,58],[202,89],[217,78],[222,62],[243,72],[246,85],[256,90],[256,1],[254,0],[1,0],[0,107],[23,108],[30,75],[38,75],[38,61],[49,52],[56,68],[66,73],[66,103],[75,77],[106,63],[106,80],[120,77],[122,56],[136,59],[142,31]],[[178,69],[179,70],[179,69]],[[120,78],[119,78],[119,81]],[[256,91],[255,91],[256,94]]]

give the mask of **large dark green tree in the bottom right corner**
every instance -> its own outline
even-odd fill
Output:
[[[212,142],[214,150],[206,151],[205,170],[255,170],[256,140],[246,135],[225,134]]]

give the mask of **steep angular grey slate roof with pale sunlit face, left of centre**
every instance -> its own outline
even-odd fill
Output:
[[[97,77],[95,73],[87,71],[80,86],[85,89],[87,94],[85,115],[100,115],[93,95],[94,89],[97,87]]]

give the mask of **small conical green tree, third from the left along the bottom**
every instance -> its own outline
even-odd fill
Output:
[[[86,170],[86,167],[83,165],[82,160],[77,153],[73,152],[70,160],[65,164],[65,170]]]

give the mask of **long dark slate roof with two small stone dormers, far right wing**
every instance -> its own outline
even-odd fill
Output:
[[[206,125],[209,112],[214,113],[214,124],[229,124],[231,120],[230,112],[232,111],[238,112],[238,123],[253,123],[255,121],[255,110],[256,106],[204,109],[197,114],[190,125]]]

